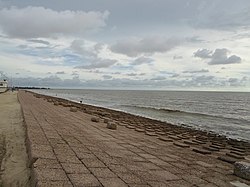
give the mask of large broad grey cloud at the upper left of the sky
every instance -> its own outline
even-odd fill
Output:
[[[104,27],[108,16],[108,11],[55,11],[44,7],[11,7],[0,10],[0,28],[7,35],[18,38],[75,35]]]

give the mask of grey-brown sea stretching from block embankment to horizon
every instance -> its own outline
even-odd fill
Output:
[[[34,92],[250,142],[250,93],[49,89]]]

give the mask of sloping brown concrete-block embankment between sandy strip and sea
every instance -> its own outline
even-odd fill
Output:
[[[247,142],[26,91],[18,98],[32,186],[250,184],[233,174],[234,162],[250,160]]]

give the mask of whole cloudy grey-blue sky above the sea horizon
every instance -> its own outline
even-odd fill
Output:
[[[249,0],[0,0],[21,86],[250,91]]]

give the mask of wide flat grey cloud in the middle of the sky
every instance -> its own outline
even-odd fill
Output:
[[[115,53],[136,57],[164,53],[180,45],[181,41],[175,38],[147,37],[143,39],[127,39],[111,45],[110,50]]]

